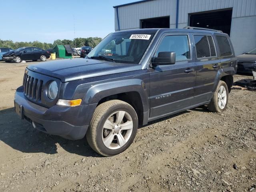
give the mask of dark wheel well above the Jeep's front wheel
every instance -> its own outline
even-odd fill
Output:
[[[114,99],[118,99],[118,100],[121,100],[121,101],[124,101],[124,102],[130,104],[137,113],[139,125],[142,125],[142,123],[143,123],[143,105],[142,105],[142,100],[140,98],[140,94],[138,92],[132,91],[132,92],[125,92],[125,93],[110,95],[110,96],[102,98],[98,102],[98,105],[100,105],[106,101],[114,100]]]

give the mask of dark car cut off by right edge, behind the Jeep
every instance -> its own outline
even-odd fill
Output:
[[[237,72],[252,74],[256,70],[256,48],[237,56]]]

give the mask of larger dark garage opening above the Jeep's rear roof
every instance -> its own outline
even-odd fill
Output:
[[[192,13],[189,17],[189,26],[221,30],[230,35],[232,9]]]

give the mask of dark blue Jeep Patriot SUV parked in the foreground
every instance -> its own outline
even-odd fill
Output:
[[[102,56],[102,50],[115,53]],[[72,140],[86,135],[96,152],[113,156],[152,120],[202,105],[224,111],[236,68],[222,32],[124,30],[85,59],[27,66],[14,105],[34,128]]]

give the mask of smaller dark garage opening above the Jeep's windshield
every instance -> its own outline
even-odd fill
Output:
[[[140,28],[170,28],[170,16],[150,19],[141,19]]]

